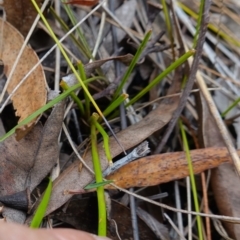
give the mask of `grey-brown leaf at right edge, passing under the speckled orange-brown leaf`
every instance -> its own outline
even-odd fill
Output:
[[[202,105],[202,136],[206,147],[222,147],[224,142],[221,133],[209,111],[206,101],[201,96]],[[240,191],[239,177],[234,171],[234,166],[225,163],[212,170],[211,185],[218,209],[222,215],[240,216]],[[240,239],[240,225],[223,222],[228,234],[233,239]]]

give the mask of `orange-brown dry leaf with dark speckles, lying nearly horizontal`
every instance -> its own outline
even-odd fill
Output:
[[[226,148],[205,148],[192,150],[191,158],[194,173],[219,166],[230,161]],[[172,152],[151,155],[131,162],[107,179],[113,180],[121,188],[154,186],[160,183],[189,176],[185,152]],[[107,185],[106,188],[114,188]]]

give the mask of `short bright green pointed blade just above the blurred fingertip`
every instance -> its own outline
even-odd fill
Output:
[[[46,209],[47,209],[47,206],[49,203],[51,192],[52,192],[52,180],[51,180],[51,178],[49,178],[49,183],[48,183],[47,189],[44,192],[43,198],[34,214],[33,220],[30,224],[30,228],[39,228],[40,227],[40,224],[43,220],[44,214],[46,212]]]

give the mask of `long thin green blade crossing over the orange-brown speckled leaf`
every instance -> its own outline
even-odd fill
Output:
[[[182,140],[183,140],[183,145],[184,145],[184,151],[186,153],[186,158],[187,158],[187,162],[188,162],[188,168],[189,168],[190,181],[191,181],[191,186],[192,186],[194,205],[195,205],[196,212],[200,213],[198,196],[197,196],[197,189],[196,189],[196,183],[195,183],[195,177],[194,177],[194,171],[193,171],[193,165],[192,165],[192,159],[191,159],[191,155],[190,155],[190,151],[189,151],[186,132],[183,128],[183,124],[182,124],[181,120],[179,120],[179,126],[180,126],[180,130],[181,130],[181,135],[182,135]],[[196,218],[197,218],[197,227],[198,227],[198,237],[199,237],[200,240],[203,240],[203,229],[202,229],[201,217],[199,215],[197,215]]]

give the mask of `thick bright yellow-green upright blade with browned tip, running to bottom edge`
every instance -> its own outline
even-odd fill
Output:
[[[94,115],[91,116],[90,120],[95,118]],[[102,177],[102,169],[100,165],[98,149],[97,149],[97,133],[96,133],[96,126],[94,121],[97,121],[95,118],[91,121],[91,143],[92,143],[92,161],[93,161],[93,168],[95,172],[95,179],[96,183],[103,182]],[[104,194],[104,187],[99,186],[97,187],[97,199],[98,199],[98,235],[99,236],[106,236],[107,235],[107,211],[106,211],[106,202],[105,202],[105,194]]]

